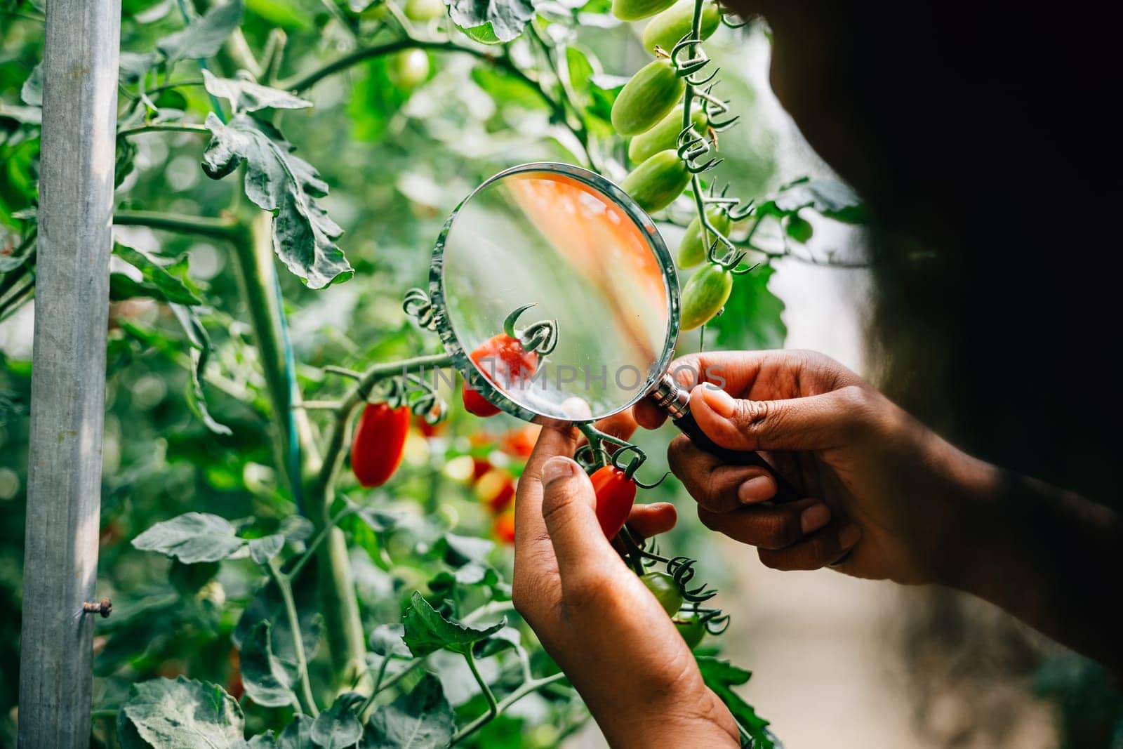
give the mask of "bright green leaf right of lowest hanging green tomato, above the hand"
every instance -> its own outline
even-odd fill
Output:
[[[725,311],[706,323],[707,334],[715,332],[711,346],[727,349],[763,350],[783,348],[787,326],[780,317],[784,302],[768,290],[772,266],[760,266],[733,280],[733,291],[725,301]]]

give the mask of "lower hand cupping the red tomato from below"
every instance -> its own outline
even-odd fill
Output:
[[[613,747],[740,746],[674,623],[615,552],[596,497],[568,456],[572,427],[545,427],[519,478],[512,599]],[[636,505],[641,536],[675,524],[667,503]]]

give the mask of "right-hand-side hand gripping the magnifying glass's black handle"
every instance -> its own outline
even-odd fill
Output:
[[[777,569],[836,569],[901,583],[951,582],[952,532],[993,468],[942,440],[838,362],[806,351],[727,351],[672,364],[691,413],[721,447],[760,450],[801,493],[772,504],[776,481],[679,436],[670,469],[713,530],[758,547]],[[693,378],[693,381],[692,381]],[[710,384],[697,384],[710,383]],[[666,418],[640,403],[636,420]],[[849,552],[849,555],[848,555]]]

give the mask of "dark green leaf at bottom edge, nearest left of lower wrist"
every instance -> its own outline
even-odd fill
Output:
[[[409,694],[382,705],[366,725],[363,749],[440,749],[453,740],[453,709],[440,679],[426,674]]]

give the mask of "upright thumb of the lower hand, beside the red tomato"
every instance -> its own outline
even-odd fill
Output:
[[[586,567],[619,559],[596,521],[596,493],[588,476],[569,458],[542,464],[542,520],[554,545],[562,579]]]

